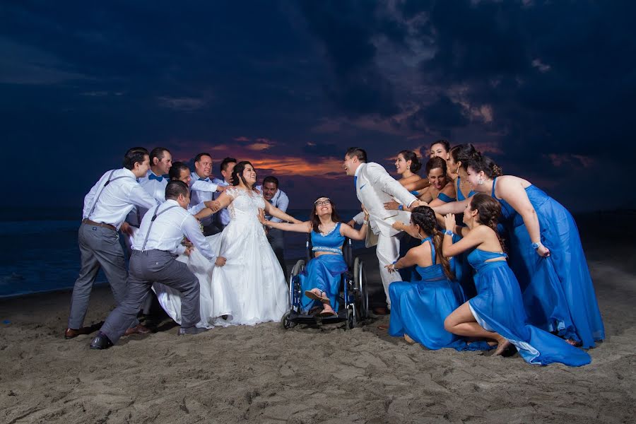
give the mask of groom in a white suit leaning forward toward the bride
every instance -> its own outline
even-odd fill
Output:
[[[400,216],[403,212],[389,211],[384,208],[384,204],[393,200],[391,198],[394,197],[401,204],[411,206],[418,199],[391,177],[382,165],[373,162],[367,163],[367,153],[361,148],[348,148],[343,167],[347,175],[353,176],[355,194],[358,195],[358,200],[369,212],[370,229],[377,235],[375,253],[379,261],[384,294],[387,296],[387,306],[390,310],[389,284],[400,280],[399,273],[389,273],[385,268],[398,259],[400,251],[400,242],[396,237],[399,231],[394,230],[391,224],[396,220],[404,220],[404,217]],[[387,313],[384,308],[377,310],[379,314],[382,312]]]

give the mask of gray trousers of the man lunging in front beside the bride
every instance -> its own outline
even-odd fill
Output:
[[[165,284],[181,293],[182,328],[191,328],[200,321],[199,279],[187,265],[163,250],[133,250],[126,296],[100,329],[112,343],[117,343],[134,321],[153,283]]]

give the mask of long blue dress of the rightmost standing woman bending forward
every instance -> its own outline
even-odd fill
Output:
[[[495,178],[495,199],[496,183]],[[532,249],[522,216],[507,201],[497,200],[509,239],[510,267],[519,279],[529,322],[591,348],[594,341],[605,338],[605,329],[577,224],[565,207],[541,189],[531,185],[526,194],[536,211],[541,243],[550,249],[549,257],[540,257]]]

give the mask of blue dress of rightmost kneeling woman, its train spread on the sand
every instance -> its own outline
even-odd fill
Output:
[[[526,323],[526,312],[519,283],[506,261],[486,262],[506,257],[505,253],[473,249],[468,259],[475,269],[475,298],[469,300],[473,317],[488,331],[496,331],[519,351],[527,363],[563,363],[579,367],[591,362],[587,352]]]

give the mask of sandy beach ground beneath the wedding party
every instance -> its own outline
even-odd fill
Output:
[[[591,365],[428,351],[377,329],[279,324],[147,336],[91,351],[64,340],[70,293],[0,301],[1,423],[629,423],[636,414],[636,276],[588,252],[606,325]],[[375,298],[377,266],[364,254]],[[112,309],[95,288],[86,325]],[[630,418],[632,417],[632,418]]]

